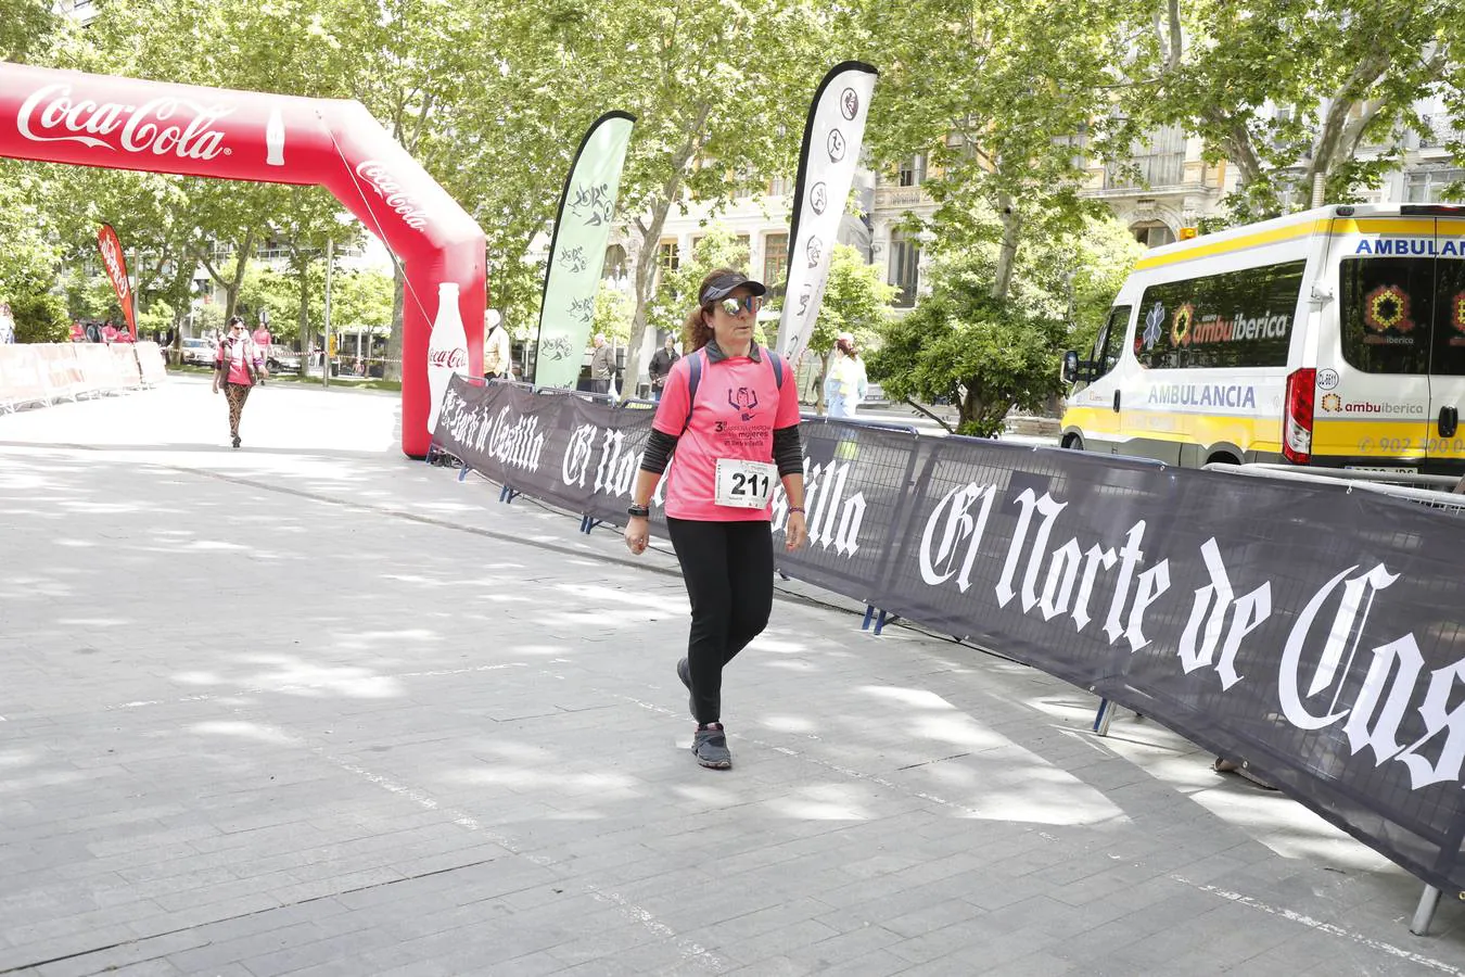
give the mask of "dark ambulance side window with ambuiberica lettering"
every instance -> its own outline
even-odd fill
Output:
[[[1146,289],[1134,354],[1156,369],[1286,366],[1304,267],[1289,261]]]

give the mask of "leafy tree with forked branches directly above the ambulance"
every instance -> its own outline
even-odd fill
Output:
[[[1236,167],[1239,220],[1307,207],[1314,179],[1348,201],[1398,168],[1402,129],[1431,129],[1418,100],[1440,92],[1465,114],[1462,28],[1456,0],[1166,0],[1124,104]],[[1389,148],[1364,160],[1365,145]]]

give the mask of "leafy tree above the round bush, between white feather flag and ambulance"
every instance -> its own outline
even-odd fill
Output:
[[[1045,4],[869,0],[851,31],[886,51],[866,141],[876,160],[926,158],[929,230],[946,248],[998,243],[990,294],[1012,287],[1021,248],[1078,233],[1100,212],[1080,190],[1088,157],[1134,125],[1110,111],[1132,0]]]

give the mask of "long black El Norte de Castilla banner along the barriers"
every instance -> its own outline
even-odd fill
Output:
[[[624,524],[650,417],[454,378],[435,442],[497,482]],[[807,419],[801,434],[810,545],[776,548],[788,576],[1245,759],[1421,879],[1465,891],[1458,516],[1346,486],[857,422]]]

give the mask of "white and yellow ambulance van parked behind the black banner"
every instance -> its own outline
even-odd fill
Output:
[[[1064,378],[1068,448],[1465,473],[1465,207],[1323,207],[1156,248]]]

